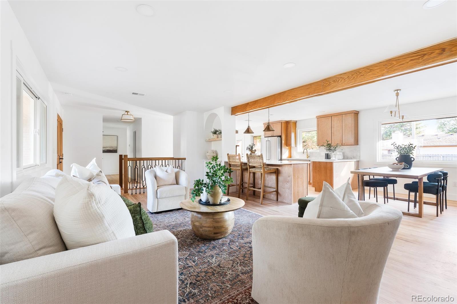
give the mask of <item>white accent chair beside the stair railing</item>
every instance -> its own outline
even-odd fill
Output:
[[[181,208],[179,204],[189,198],[189,175],[180,169],[173,168],[173,170],[175,171],[176,184],[159,187],[157,187],[155,168],[146,171],[147,207],[150,212]]]

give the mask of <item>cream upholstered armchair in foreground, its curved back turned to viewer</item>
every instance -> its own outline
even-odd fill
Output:
[[[252,298],[266,303],[377,303],[402,219],[359,202],[355,219],[264,216],[252,227]]]

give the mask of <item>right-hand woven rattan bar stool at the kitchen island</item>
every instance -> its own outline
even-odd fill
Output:
[[[278,200],[278,168],[268,168],[265,167],[265,163],[263,162],[263,155],[250,155],[246,154],[246,159],[248,161],[248,189],[246,191],[246,200],[249,199],[249,190],[252,190],[253,194],[255,194],[255,191],[260,191],[260,204],[263,204],[263,195],[267,193],[273,193],[276,192],[276,200]],[[255,180],[255,173],[260,173],[262,175],[262,183],[260,188],[254,188],[254,183],[253,187],[250,187],[250,178],[251,175],[250,173],[252,172],[252,179],[253,181]],[[276,177],[276,188],[275,187],[270,187],[270,186],[265,186],[265,174],[266,173],[275,173]],[[273,191],[268,191],[265,192],[265,188],[270,188],[274,189]]]

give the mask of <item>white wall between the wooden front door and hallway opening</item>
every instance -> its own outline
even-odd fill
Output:
[[[101,160],[103,115],[71,106],[64,106],[64,110],[71,113],[64,119],[64,172],[71,172],[72,163],[86,166],[94,157],[104,170]]]

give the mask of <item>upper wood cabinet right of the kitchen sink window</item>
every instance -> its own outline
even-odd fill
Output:
[[[354,146],[359,144],[359,111],[316,116],[317,145],[326,140],[332,145]]]

